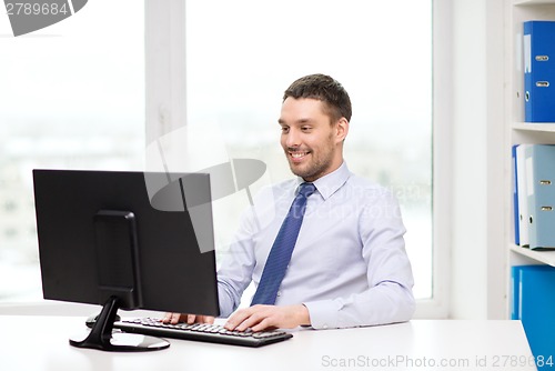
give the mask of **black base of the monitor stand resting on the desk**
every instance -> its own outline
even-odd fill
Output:
[[[170,343],[164,339],[137,333],[113,332],[113,322],[118,309],[118,298],[110,298],[102,308],[91,331],[82,337],[70,339],[70,344],[77,348],[110,352],[144,352],[170,347]]]

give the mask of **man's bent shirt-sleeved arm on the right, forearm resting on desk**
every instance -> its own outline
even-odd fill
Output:
[[[314,329],[404,322],[414,313],[413,274],[398,203],[385,190],[371,193],[369,199],[359,218],[369,288],[332,300],[304,302]]]

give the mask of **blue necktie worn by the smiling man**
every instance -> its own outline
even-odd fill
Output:
[[[280,232],[275,238],[272,250],[268,255],[266,264],[262,271],[259,287],[252,299],[251,305],[254,304],[273,304],[278,295],[278,289],[285,275],[293,248],[296,243],[299,230],[303,222],[304,210],[306,209],[306,199],[314,193],[316,187],[312,183],[302,183],[299,189],[289,213],[281,224]]]

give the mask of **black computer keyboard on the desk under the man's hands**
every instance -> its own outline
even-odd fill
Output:
[[[285,331],[229,331],[219,324],[209,323],[178,323],[167,324],[159,319],[141,318],[123,320],[114,323],[115,329],[124,332],[141,333],[162,338],[205,341],[222,344],[263,347],[291,339],[293,335]]]

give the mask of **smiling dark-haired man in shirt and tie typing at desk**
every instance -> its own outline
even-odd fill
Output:
[[[285,90],[281,146],[296,179],[263,190],[242,218],[218,271],[228,329],[350,328],[413,315],[400,208],[390,191],[347,169],[350,120],[349,94],[329,76]],[[236,310],[251,281],[252,305]],[[213,319],[167,313],[162,321]]]

